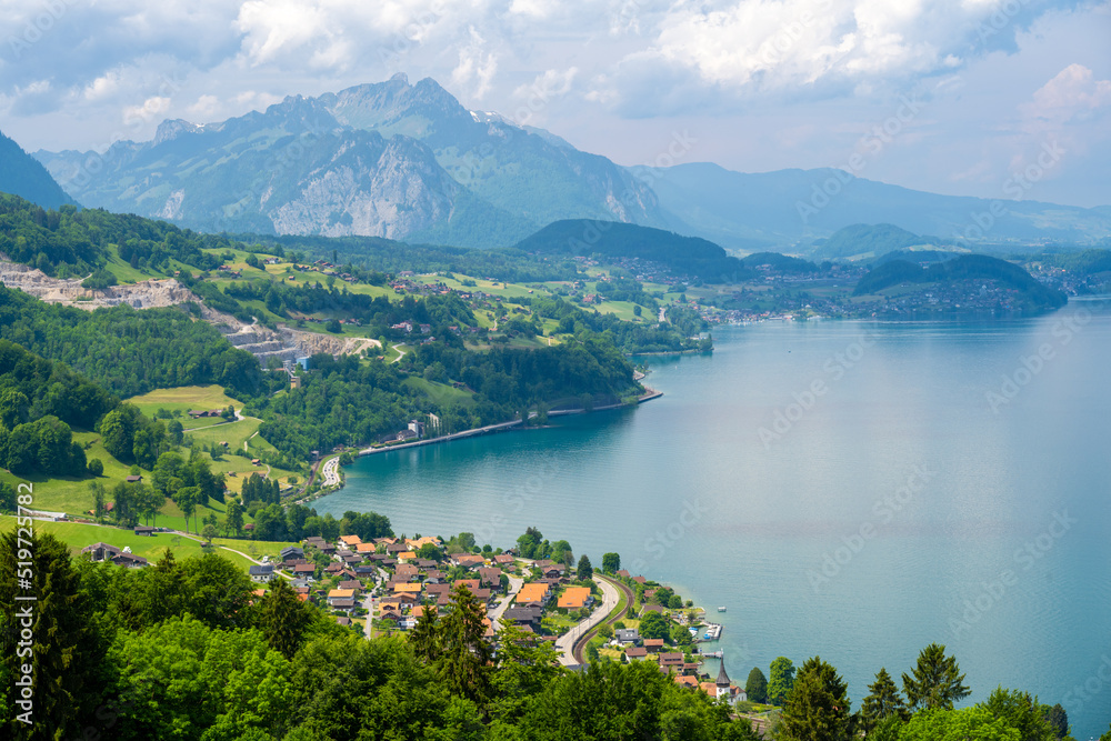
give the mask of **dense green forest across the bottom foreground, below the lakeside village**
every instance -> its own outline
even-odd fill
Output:
[[[346,528],[353,521],[344,514]],[[383,523],[368,521],[377,530]],[[388,521],[384,523],[388,528]],[[367,640],[282,579],[264,593],[230,561],[207,553],[152,568],[73,559],[51,535],[27,544],[34,643],[19,655],[14,532],[0,539],[0,712],[4,738],[121,741],[755,741],[745,718],[680,687],[653,662],[558,664],[552,645],[501,630],[466,587],[408,637]],[[22,664],[34,675],[32,724],[17,715]],[[753,680],[754,675],[757,677]],[[929,645],[902,674],[881,669],[854,710],[837,669],[785,658],[753,691],[778,703],[780,741],[1062,741],[1068,715],[1028,693],[970,693],[954,657]],[[1111,739],[1111,732],[1104,737]]]

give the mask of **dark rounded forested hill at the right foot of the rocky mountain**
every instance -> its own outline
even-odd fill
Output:
[[[550,223],[517,243],[517,249],[541,254],[640,258],[708,282],[738,280],[752,271],[725,250],[698,237],[613,221],[571,219]]]

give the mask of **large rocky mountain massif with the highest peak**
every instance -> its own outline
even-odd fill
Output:
[[[104,154],[36,157],[86,206],[202,231],[493,247],[557,219],[663,224],[652,191],[605,158],[403,76],[221,123],[163,121]]]

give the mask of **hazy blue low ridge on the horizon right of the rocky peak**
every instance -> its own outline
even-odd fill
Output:
[[[992,203],[998,210],[999,201],[940,196],[864,178],[845,182],[845,172],[831,168],[747,173],[691,162],[631,170],[652,183],[668,229],[735,249],[799,252],[843,227],[878,222],[944,240],[964,237],[970,244],[1044,240],[1089,244],[1111,236],[1109,207],[1004,200],[1007,212],[982,230],[973,216],[990,213]]]

